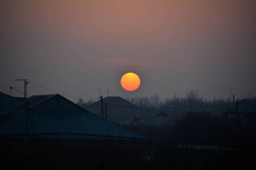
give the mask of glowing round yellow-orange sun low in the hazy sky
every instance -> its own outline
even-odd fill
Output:
[[[126,73],[121,78],[121,86],[127,91],[136,90],[141,84],[141,79],[135,73]]]

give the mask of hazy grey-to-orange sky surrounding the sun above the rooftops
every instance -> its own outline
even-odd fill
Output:
[[[256,97],[256,1],[0,0],[0,92]],[[141,86],[120,80],[135,73]],[[18,92],[18,91],[19,92]]]

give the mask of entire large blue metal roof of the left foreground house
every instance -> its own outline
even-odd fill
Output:
[[[28,138],[147,140],[60,95],[31,96],[26,101],[29,108]],[[0,118],[0,137],[24,137],[24,102],[0,112]]]

